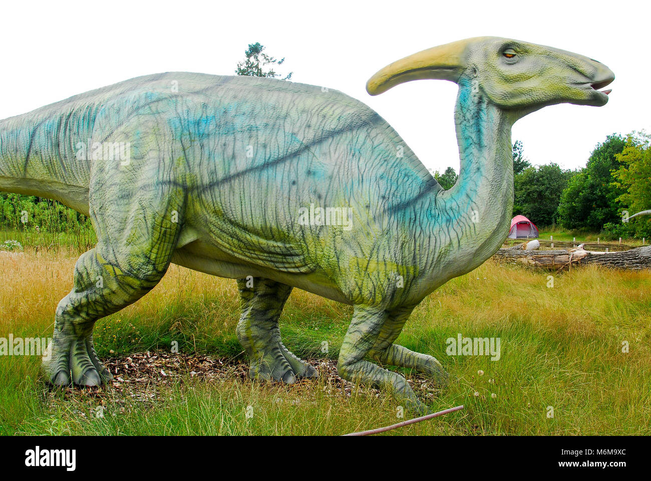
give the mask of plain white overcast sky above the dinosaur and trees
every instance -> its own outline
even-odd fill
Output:
[[[247,44],[286,57],[292,80],[378,111],[428,168],[458,171],[456,85],[422,80],[371,97],[368,78],[401,57],[493,35],[574,51],[615,72],[603,108],[561,105],[516,123],[534,164],[585,165],[607,134],[651,131],[651,7],[628,1],[110,1],[3,3],[0,119],[166,71],[232,75]],[[284,71],[284,70],[283,70]],[[609,87],[609,88],[610,88]]]

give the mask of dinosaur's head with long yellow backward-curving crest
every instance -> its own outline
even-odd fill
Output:
[[[603,106],[615,79],[596,60],[508,38],[475,37],[423,50],[385,66],[367,82],[370,95],[411,80],[467,85],[516,117],[564,102]]]

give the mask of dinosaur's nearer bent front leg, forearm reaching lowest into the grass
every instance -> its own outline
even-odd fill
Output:
[[[428,409],[414,394],[407,380],[400,374],[376,366],[364,358],[372,353],[383,325],[387,322],[385,310],[367,306],[355,306],[353,319],[348,327],[339,352],[337,370],[348,381],[368,383],[389,390],[398,400],[419,412]]]

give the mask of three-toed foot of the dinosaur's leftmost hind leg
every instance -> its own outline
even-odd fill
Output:
[[[48,346],[40,371],[46,382],[55,387],[99,386],[113,379],[95,353],[92,336],[55,338]]]

